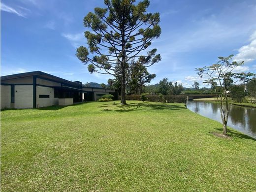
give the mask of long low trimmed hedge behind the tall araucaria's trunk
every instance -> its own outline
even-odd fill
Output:
[[[148,101],[167,103],[186,103],[187,96],[146,96]],[[119,98],[120,99],[120,98]],[[126,100],[141,100],[141,96],[126,96]]]

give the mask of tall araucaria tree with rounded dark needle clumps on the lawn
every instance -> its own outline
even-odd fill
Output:
[[[126,104],[126,75],[132,60],[145,59],[146,66],[160,61],[157,49],[144,53],[154,38],[160,37],[159,13],[146,13],[149,0],[104,0],[105,8],[96,7],[84,18],[89,50],[81,46],[76,56],[88,64],[90,73],[121,76],[121,104]],[[95,54],[95,55],[94,55]],[[94,55],[94,56],[93,56]],[[150,61],[150,62],[148,62]]]

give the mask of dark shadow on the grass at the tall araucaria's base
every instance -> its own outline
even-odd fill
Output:
[[[113,105],[113,104],[104,104],[104,105]],[[164,104],[164,103],[129,103],[127,105],[114,105],[115,107],[112,109],[103,109],[101,111],[116,111],[116,112],[129,112],[129,111],[136,111],[136,110],[181,110],[186,108],[185,106],[178,106],[172,104]],[[105,107],[105,106],[99,106]]]

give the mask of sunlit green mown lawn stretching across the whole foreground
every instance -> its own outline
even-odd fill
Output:
[[[255,139],[217,137],[184,104],[128,103],[1,111],[1,191],[256,191]]]

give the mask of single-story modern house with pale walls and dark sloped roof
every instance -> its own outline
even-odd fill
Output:
[[[42,71],[1,76],[0,83],[1,109],[70,105],[96,101],[105,94],[118,99],[114,90],[84,87],[80,81],[68,81]]]

